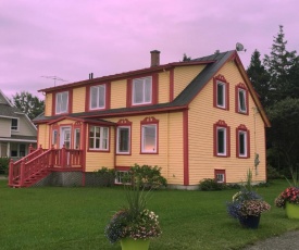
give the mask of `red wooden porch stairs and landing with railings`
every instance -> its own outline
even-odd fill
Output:
[[[83,172],[83,150],[29,148],[29,154],[10,161],[9,186],[29,187],[41,182],[53,172]]]

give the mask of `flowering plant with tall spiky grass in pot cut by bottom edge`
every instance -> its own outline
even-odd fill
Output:
[[[111,243],[119,240],[123,250],[147,250],[149,240],[161,235],[158,215],[146,208],[148,195],[139,185],[125,186],[127,204],[114,213],[104,234]]]

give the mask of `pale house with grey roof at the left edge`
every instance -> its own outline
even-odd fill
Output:
[[[28,116],[13,107],[0,90],[0,157],[18,160],[36,147],[37,129]]]

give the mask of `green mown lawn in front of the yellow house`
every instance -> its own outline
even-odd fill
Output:
[[[299,229],[274,207],[274,199],[287,187],[276,180],[258,191],[272,205],[257,230],[245,229],[226,214],[225,202],[236,190],[159,190],[148,208],[160,218],[162,236],[150,249],[241,249],[246,245]],[[1,249],[121,249],[110,245],[103,230],[111,215],[125,202],[123,188],[23,188],[13,189],[0,180]]]

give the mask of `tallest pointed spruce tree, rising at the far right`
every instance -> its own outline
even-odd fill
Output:
[[[286,45],[284,26],[279,25],[279,32],[274,37],[271,53],[264,57],[264,66],[271,76],[269,98],[272,103],[288,97],[292,89],[290,73],[292,66],[298,63],[298,58],[295,50],[286,49]]]

